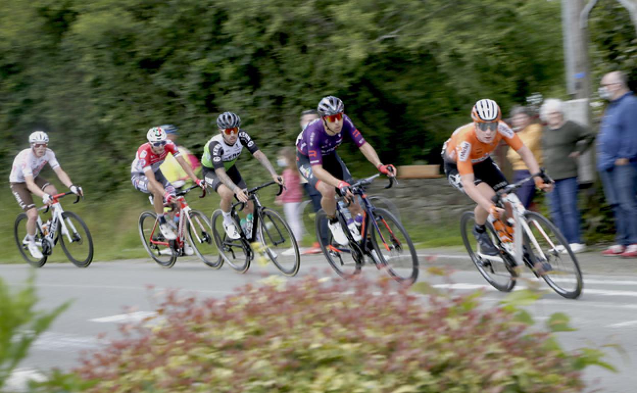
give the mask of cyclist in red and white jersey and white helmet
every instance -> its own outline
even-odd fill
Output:
[[[155,213],[157,213],[157,218],[159,219],[159,229],[166,239],[174,240],[176,238],[175,232],[168,225],[164,215],[164,201],[166,203],[173,201],[175,187],[168,182],[159,167],[170,153],[193,182],[201,188],[206,187],[206,183],[197,178],[190,165],[180,155],[175,143],[168,139],[168,135],[162,127],[149,129],[146,138],[148,142],[137,149],[135,159],[132,161],[131,183],[135,189],[153,195]]]

